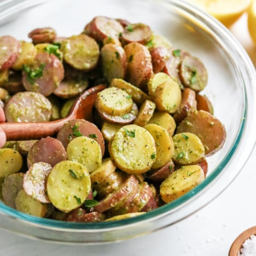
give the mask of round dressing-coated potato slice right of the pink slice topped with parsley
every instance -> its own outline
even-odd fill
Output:
[[[74,35],[63,40],[61,51],[63,59],[69,65],[83,71],[95,68],[100,56],[100,48],[96,41],[85,34]]]

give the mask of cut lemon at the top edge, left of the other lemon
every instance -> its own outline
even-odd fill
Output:
[[[252,0],[188,0],[230,27],[250,6]],[[255,15],[254,15],[255,16]]]

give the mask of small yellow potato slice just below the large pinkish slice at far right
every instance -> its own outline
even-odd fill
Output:
[[[205,148],[201,139],[194,133],[176,133],[172,137],[174,152],[172,160],[181,165],[194,165],[205,157]]]

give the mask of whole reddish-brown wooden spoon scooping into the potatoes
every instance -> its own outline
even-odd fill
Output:
[[[91,120],[91,110],[94,106],[97,93],[105,88],[105,85],[97,85],[86,90],[74,102],[66,118],[40,123],[0,123],[0,127],[5,132],[7,141],[24,141],[30,139],[39,139],[46,136],[53,136],[68,120]]]

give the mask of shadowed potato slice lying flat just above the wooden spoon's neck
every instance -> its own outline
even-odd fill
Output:
[[[72,98],[78,96],[86,88],[88,88],[88,80],[63,80],[53,93],[60,98]]]

